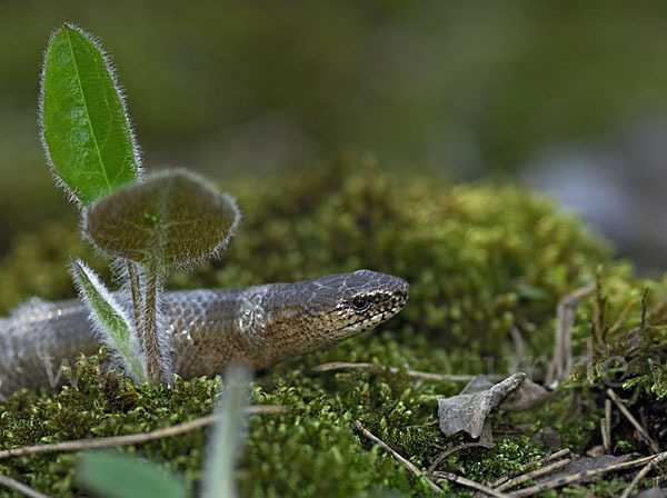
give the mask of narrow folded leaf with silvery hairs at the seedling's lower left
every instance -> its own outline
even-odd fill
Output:
[[[104,343],[117,351],[128,374],[138,382],[147,379],[137,346],[137,333],[125,309],[99,277],[80,259],[72,258],[72,275]]]

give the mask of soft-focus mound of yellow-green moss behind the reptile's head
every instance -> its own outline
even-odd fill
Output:
[[[392,176],[369,155],[240,183],[233,192],[245,212],[238,236],[193,277],[196,285],[289,281],[358,268],[397,275],[410,282],[410,301],[392,323],[461,348],[472,361],[511,356],[508,329],[520,322],[534,326],[525,337],[528,352],[547,352],[558,298],[610,260],[607,242],[544,196]],[[176,283],[191,285],[192,276]],[[451,359],[455,367],[460,356]]]

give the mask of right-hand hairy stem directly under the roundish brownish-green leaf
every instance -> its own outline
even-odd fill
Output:
[[[143,313],[141,319],[140,341],[146,353],[146,371],[151,386],[171,381],[162,348],[160,348],[160,330],[158,323],[158,292],[160,291],[160,275],[155,257],[150,259],[150,266],[146,275],[146,289],[143,296]]]

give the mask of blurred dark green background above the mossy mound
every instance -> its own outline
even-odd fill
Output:
[[[354,147],[532,182],[545,151],[615,157],[667,116],[664,1],[0,1],[0,256],[73,211],[37,128],[42,52],[66,20],[112,54],[149,170],[225,179]]]

